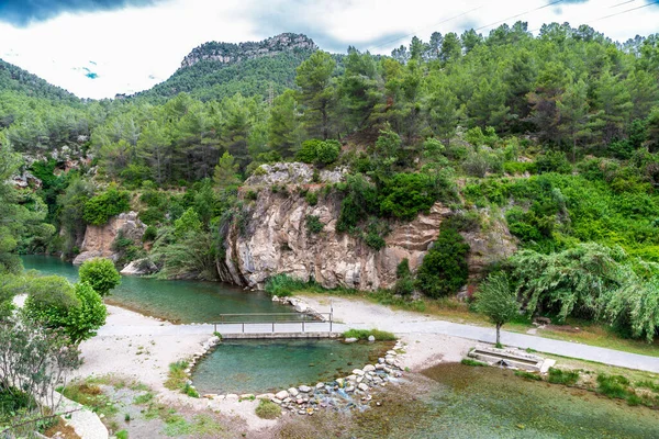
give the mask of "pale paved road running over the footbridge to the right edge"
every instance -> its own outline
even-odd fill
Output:
[[[349,325],[335,323],[334,333],[343,333],[348,328],[378,328],[394,334],[442,334],[454,337],[467,338],[470,340],[491,342],[495,341],[494,328],[480,327],[472,325],[462,325],[457,323],[425,319],[414,322],[389,322],[387,324],[372,323],[351,323]],[[213,325],[165,325],[165,326],[113,326],[103,327],[99,330],[100,336],[118,335],[163,335],[163,336],[185,336],[196,334],[213,334]],[[245,333],[270,333],[271,324],[249,324],[245,326]],[[330,325],[326,323],[306,323],[305,331],[322,333],[328,331]],[[217,327],[221,334],[239,334],[243,331],[242,325],[227,324]],[[280,334],[300,333],[301,324],[276,324],[276,331]],[[538,352],[554,353],[562,357],[577,358],[581,360],[596,361],[605,364],[612,364],[628,369],[638,369],[648,372],[659,373],[659,358],[639,356],[613,349],[597,348],[594,346],[581,345],[570,341],[552,340],[525,334],[501,331],[501,341],[506,346],[514,346],[522,349],[532,348]]]

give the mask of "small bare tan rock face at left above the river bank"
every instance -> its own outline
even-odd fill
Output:
[[[119,255],[112,249],[112,243],[116,235],[123,233],[124,237],[138,243],[144,230],[146,230],[146,224],[137,218],[136,212],[122,213],[110,218],[103,226],[89,225],[85,232],[81,252],[74,259],[74,264],[79,266],[92,258],[108,258],[116,261]]]

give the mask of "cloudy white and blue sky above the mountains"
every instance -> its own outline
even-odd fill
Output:
[[[659,0],[0,0],[0,58],[80,98],[113,98],[166,80],[205,42],[303,33],[324,50],[390,54],[502,23],[589,24],[624,42],[659,32]]]

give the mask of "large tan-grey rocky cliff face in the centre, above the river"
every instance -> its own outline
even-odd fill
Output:
[[[295,169],[299,167],[304,166],[293,165]],[[290,172],[291,176],[300,173],[304,175],[300,170]],[[263,176],[257,178],[263,179]],[[257,178],[246,184],[260,181]],[[283,181],[282,176],[277,179],[279,183]],[[392,223],[392,232],[386,238],[387,247],[373,250],[361,239],[336,232],[340,211],[338,194],[319,193],[317,204],[311,206],[294,188],[319,191],[322,185],[309,184],[304,178],[293,182],[288,193],[272,193],[269,187],[261,187],[257,200],[244,213],[243,226],[234,224],[231,227],[225,257],[217,263],[223,281],[263,288],[269,277],[287,273],[305,281],[315,280],[325,288],[390,288],[395,283],[396,266],[407,258],[410,268],[416,270],[437,238],[442,223],[453,214],[448,207],[436,203],[428,214],[420,215],[411,223]],[[254,190],[253,187],[249,189]],[[308,230],[308,215],[319,216],[324,224],[321,233]],[[472,274],[515,248],[514,239],[501,219],[489,221],[487,232],[463,234],[472,248],[469,259]]]

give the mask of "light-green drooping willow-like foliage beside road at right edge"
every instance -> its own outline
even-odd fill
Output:
[[[523,250],[511,258],[524,309],[622,325],[651,341],[659,329],[659,264],[622,248],[579,244],[556,254]]]

